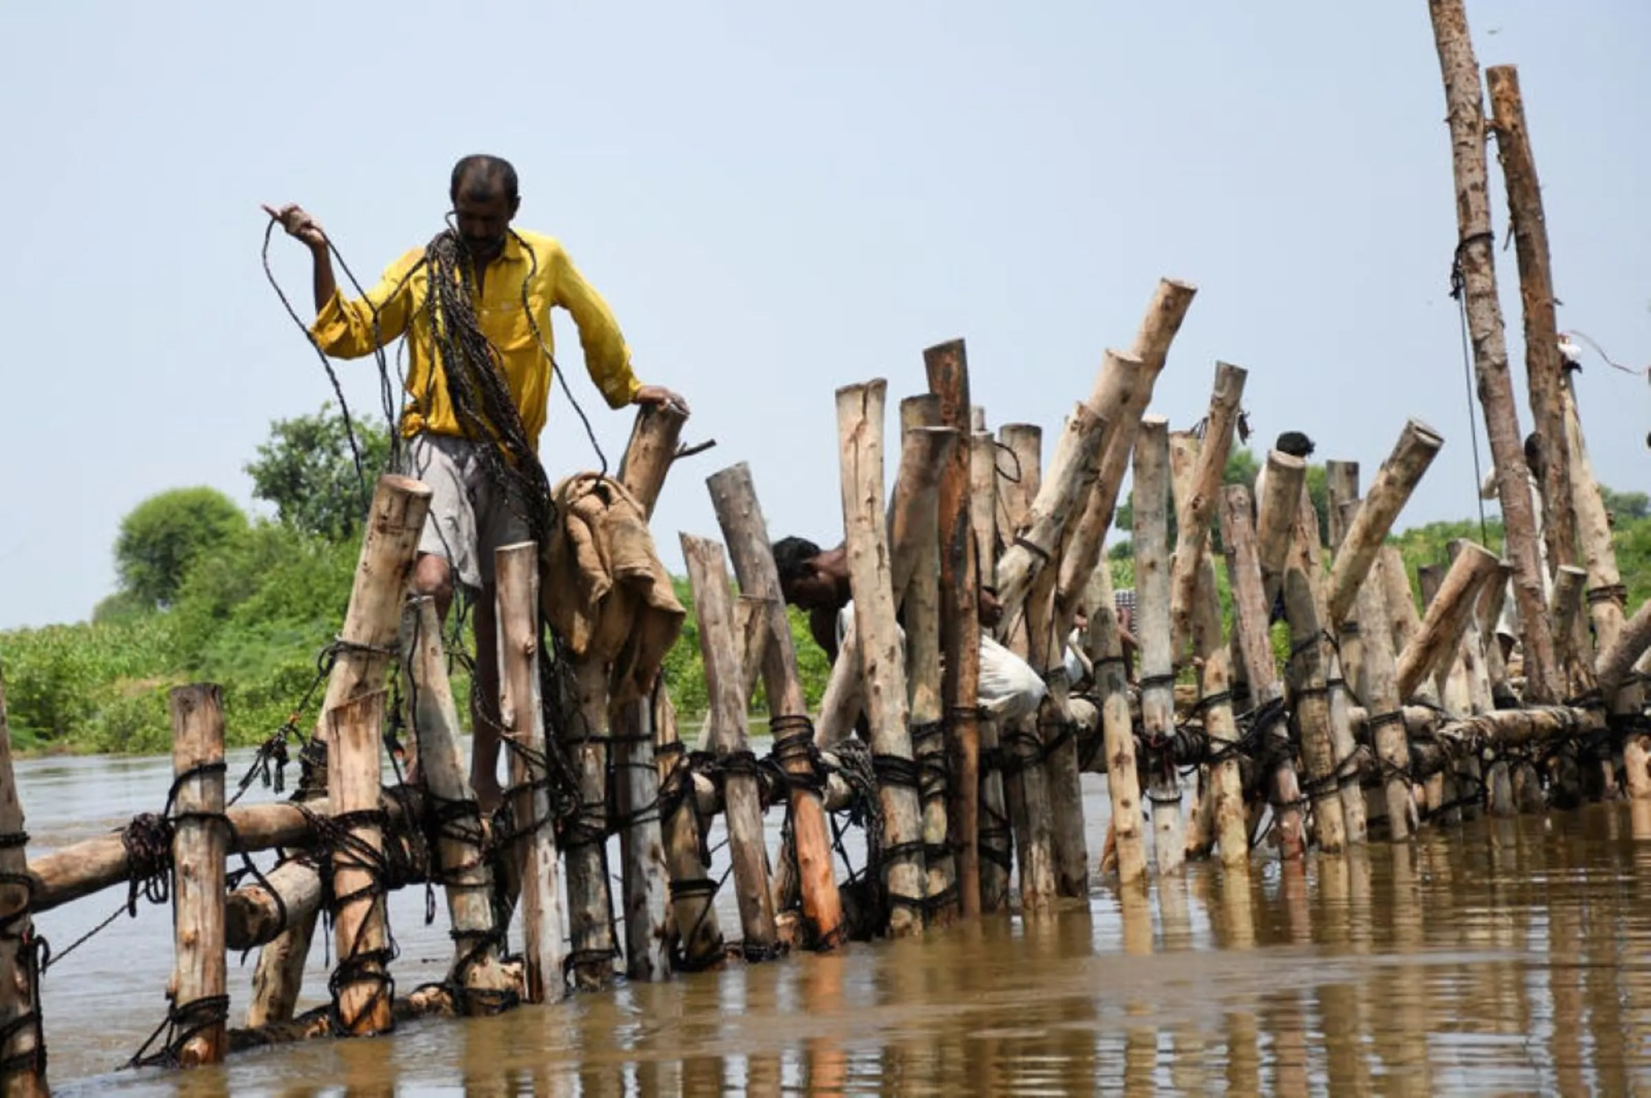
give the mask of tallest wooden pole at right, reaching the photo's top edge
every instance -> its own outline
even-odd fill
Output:
[[[1507,530],[1507,555],[1514,565],[1514,599],[1519,604],[1524,631],[1526,698],[1552,702],[1559,690],[1554,677],[1554,632],[1544,613],[1547,599],[1537,556],[1535,512],[1526,480],[1524,441],[1519,433],[1519,411],[1514,406],[1514,381],[1507,370],[1502,307],[1496,294],[1493,261],[1496,238],[1491,231],[1491,198],[1486,187],[1479,63],[1473,56],[1463,0],[1428,0],[1428,12],[1433,17],[1433,36],[1450,116],[1459,239],[1456,259],[1466,294],[1468,329],[1473,334],[1479,403],[1484,408],[1491,459],[1496,462],[1496,489],[1502,504],[1502,525]]]

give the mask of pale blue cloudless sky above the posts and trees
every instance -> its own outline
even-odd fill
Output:
[[[1521,69],[1562,325],[1651,362],[1651,7],[1469,18],[1481,64]],[[994,428],[1053,438],[1159,276],[1200,292],[1154,411],[1197,419],[1223,358],[1256,441],[1301,428],[1365,476],[1420,416],[1446,446],[1402,523],[1474,510],[1425,0],[64,2],[5,5],[0,36],[0,627],[86,616],[154,492],[251,504],[269,421],[330,396],[264,282],[258,205],[304,203],[376,277],[441,226],[467,152],[517,163],[518,223],[563,239],[644,381],[718,441],[659,507],[672,568],[736,461],[776,535],[837,537],[832,391],[883,376],[893,409],[930,343],[967,338]],[[277,244],[307,310],[307,258]],[[616,456],[631,414],[561,315],[558,340]],[[340,370],[376,408],[370,360]],[[1646,380],[1590,358],[1580,395],[1600,476],[1648,487]],[[591,462],[561,395],[545,438],[553,477]]]

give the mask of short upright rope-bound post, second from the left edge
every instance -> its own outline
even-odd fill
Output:
[[[221,1063],[229,989],[223,951],[223,878],[229,829],[223,819],[223,702],[216,685],[175,687],[172,779],[173,939],[172,1014],[200,1030],[177,1050],[180,1067]]]

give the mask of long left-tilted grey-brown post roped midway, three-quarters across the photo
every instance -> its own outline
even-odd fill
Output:
[[[1270,489],[1271,490],[1271,489]],[[1250,490],[1240,484],[1222,489],[1222,547],[1227,553],[1227,576],[1233,591],[1233,629],[1243,649],[1250,675],[1250,695],[1256,708],[1278,703],[1283,685],[1268,639],[1268,604],[1261,594],[1261,561],[1256,556],[1255,527],[1250,522]],[[1276,756],[1271,778],[1273,811],[1278,817],[1280,855],[1288,862],[1306,855],[1301,826],[1301,788],[1289,751],[1289,731],[1275,722],[1268,746]]]

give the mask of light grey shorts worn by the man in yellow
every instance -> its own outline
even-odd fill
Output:
[[[398,469],[431,490],[418,551],[444,558],[454,581],[472,594],[494,584],[497,548],[532,540],[522,505],[512,507],[475,449],[451,434],[416,434],[406,441]]]

